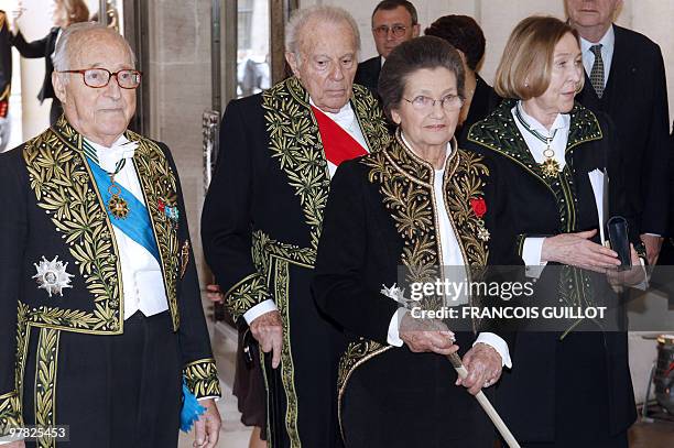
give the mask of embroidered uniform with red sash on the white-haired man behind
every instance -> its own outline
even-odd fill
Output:
[[[330,165],[348,157],[349,147],[372,152],[389,140],[378,102],[360,86],[344,108],[351,119],[338,121],[346,129],[320,113],[295,77],[232,101],[202,216],[204,252],[232,316],[250,323],[278,308],[283,317],[279,392],[289,447],[329,448],[337,438],[340,335],[309,293]],[[348,139],[356,142],[341,144]]]

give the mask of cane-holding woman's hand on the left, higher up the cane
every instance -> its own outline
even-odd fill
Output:
[[[400,339],[414,353],[434,352],[452,354],[459,348],[447,326],[434,319],[416,319],[406,313],[400,323]]]

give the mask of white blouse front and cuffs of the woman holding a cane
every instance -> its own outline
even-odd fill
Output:
[[[405,140],[405,136],[401,133],[401,138],[403,143],[411,149],[410,144]],[[453,147],[452,144],[447,144],[447,154],[445,155],[445,165],[447,164],[447,160],[452,154]],[[443,182],[445,176],[445,166],[442,170],[435,170],[435,175],[433,179],[433,201],[435,203],[435,209],[437,210],[438,216],[438,233],[441,238],[441,256],[443,266],[446,267],[446,273],[454,277],[459,282],[465,281],[468,275],[465,271],[466,262],[464,260],[464,255],[461,254],[461,250],[458,243],[458,238],[454,232],[454,227],[452,226],[452,221],[449,220],[449,214],[447,208],[445,207],[445,190],[443,188]],[[463,267],[463,273],[459,272],[459,269]],[[468,297],[461,297],[458,301],[453,301],[450,303],[446,303],[446,306],[458,306],[464,305],[468,302]],[[393,316],[391,317],[391,321],[389,323],[389,332],[387,337],[387,341],[391,346],[402,347],[403,340],[400,338],[400,320],[403,315],[409,310],[405,308],[399,308]],[[492,332],[480,332],[472,343],[486,343],[491,346],[500,356],[501,363],[508,368],[512,367],[512,361],[510,359],[510,351],[508,349],[508,343],[498,335]]]

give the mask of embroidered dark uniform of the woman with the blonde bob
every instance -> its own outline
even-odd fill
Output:
[[[609,215],[630,221],[631,240],[637,243],[633,216],[626,212],[630,207],[624,200],[624,184],[616,174],[626,171],[622,153],[606,117],[576,102],[570,111],[566,166],[550,178],[543,176],[519,132],[511,114],[513,106],[514,101],[504,100],[486,120],[474,124],[466,146],[483,155],[487,165],[499,173],[492,210],[500,210],[500,220],[510,222],[510,232],[514,230],[510,234],[493,231],[493,240],[508,240],[494,241],[494,247],[510,251],[499,258],[522,264],[528,237],[597,229],[597,206],[588,177],[596,168],[606,171],[610,178]],[[598,236],[594,240],[598,242]],[[642,253],[642,248],[639,251]],[[534,299],[535,305],[612,304],[612,317],[624,318],[604,275],[555,263],[543,270]],[[572,319],[568,324],[570,328],[576,323]],[[635,411],[627,334],[616,328],[601,331],[593,323],[583,323],[564,337],[562,331],[520,328],[512,371],[503,374],[497,389],[503,419],[520,441],[567,440],[563,437],[601,440],[629,427]]]

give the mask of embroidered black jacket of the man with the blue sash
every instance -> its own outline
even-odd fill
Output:
[[[133,164],[162,260],[184,376],[197,397],[219,395],[175,164],[164,144],[130,131],[126,135],[139,143]],[[177,226],[163,212],[161,201],[177,206]],[[0,208],[2,427],[20,423],[22,389],[37,381],[22,375],[30,331],[52,329],[106,337],[122,334],[124,320],[112,226],[85,162],[83,136],[65,117],[33,140],[0,154]],[[34,275],[43,258],[67,264],[64,269],[72,275],[72,287],[63,288],[63,295],[50,296],[39,288]]]

